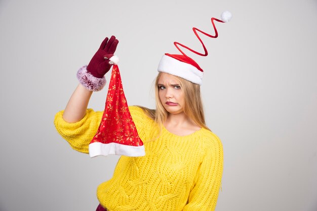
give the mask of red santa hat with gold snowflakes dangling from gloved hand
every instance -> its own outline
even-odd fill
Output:
[[[129,112],[122,86],[118,58],[109,59],[114,65],[106,98],[105,109],[98,131],[89,144],[89,155],[145,155],[144,145]]]

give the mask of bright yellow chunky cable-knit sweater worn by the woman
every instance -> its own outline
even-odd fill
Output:
[[[222,176],[219,138],[206,129],[177,136],[157,124],[139,107],[129,107],[145,156],[121,156],[112,179],[99,185],[97,197],[108,210],[214,210]],[[88,109],[79,122],[67,123],[63,111],[54,124],[70,146],[88,153],[102,112]]]

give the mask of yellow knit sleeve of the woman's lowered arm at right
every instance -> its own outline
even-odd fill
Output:
[[[220,139],[213,134],[206,144],[205,156],[196,173],[185,210],[215,210],[223,169],[223,151]]]

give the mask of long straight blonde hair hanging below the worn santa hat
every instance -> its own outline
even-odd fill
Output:
[[[159,124],[160,128],[165,122],[168,112],[163,107],[163,104],[160,100],[159,96],[159,79],[162,75],[162,72],[157,74],[156,79],[154,81],[154,89],[155,89],[155,101],[156,101],[156,110],[148,109],[145,107],[140,108],[154,120],[157,124]],[[192,83],[183,78],[175,76],[181,85],[181,89],[184,94],[184,113],[192,120],[195,124],[199,125],[202,128],[210,130],[205,122],[205,115],[203,109],[203,102],[201,97],[201,89],[199,84]]]

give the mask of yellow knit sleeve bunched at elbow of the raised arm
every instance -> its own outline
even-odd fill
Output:
[[[89,153],[89,143],[98,130],[103,112],[88,109],[84,118],[75,123],[66,122],[63,113],[64,111],[60,111],[55,115],[54,125],[57,132],[73,149]]]

